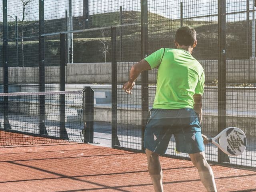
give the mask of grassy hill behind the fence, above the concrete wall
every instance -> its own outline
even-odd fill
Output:
[[[122,13],[123,24],[140,23],[140,12],[126,11]],[[119,24],[119,12],[94,14],[90,16],[90,28],[115,26]],[[198,46],[194,50],[194,57],[199,60],[218,58],[218,24],[216,21],[184,20],[184,25],[192,26],[197,31]],[[15,23],[8,23],[8,38],[15,37]],[[45,33],[65,31],[65,18],[45,20]],[[179,20],[171,20],[154,13],[148,13],[148,53],[154,52],[161,47],[174,48],[174,37],[177,28],[180,27]],[[38,21],[24,22],[24,36],[38,35]],[[83,18],[73,18],[73,30],[83,28]],[[122,61],[137,61],[141,59],[140,25],[122,28]],[[19,37],[21,37],[21,24],[19,24]],[[251,37],[247,49],[246,21],[227,23],[227,57],[230,59],[246,59],[251,52]],[[251,31],[251,29],[250,29]],[[118,35],[119,35],[118,29]],[[0,36],[2,37],[2,25],[0,24]],[[103,46],[108,46],[107,58],[111,61],[111,33],[110,30],[96,30],[83,33],[74,33],[74,62],[104,62]],[[59,35],[45,38],[46,61],[49,65],[59,65],[60,42]],[[38,38],[26,38],[25,66],[38,65]],[[104,44],[103,44],[103,43]],[[120,36],[117,37],[118,61],[120,58]],[[9,61],[15,63],[15,40],[9,42]],[[21,46],[19,46],[21,53]],[[250,55],[249,55],[250,56]],[[21,56],[19,56],[21,57]]]

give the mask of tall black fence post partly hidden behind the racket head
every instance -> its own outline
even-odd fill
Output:
[[[226,128],[226,0],[218,0],[218,133]],[[229,158],[218,148],[218,163]]]

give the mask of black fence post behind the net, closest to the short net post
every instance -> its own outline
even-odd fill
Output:
[[[65,91],[65,38],[65,34],[60,34],[60,91]],[[68,133],[65,128],[65,94],[60,94],[60,138],[69,140]]]

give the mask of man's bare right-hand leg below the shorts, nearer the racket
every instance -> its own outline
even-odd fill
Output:
[[[194,166],[198,169],[198,173],[202,183],[208,192],[217,192],[212,168],[206,161],[204,152],[189,154]]]

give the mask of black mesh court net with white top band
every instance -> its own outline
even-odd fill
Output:
[[[0,146],[82,142],[84,91],[0,93]]]

